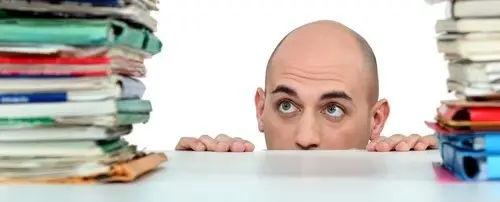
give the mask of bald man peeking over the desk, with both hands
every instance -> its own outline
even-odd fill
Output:
[[[326,20],[293,30],[269,59],[266,90],[255,94],[267,149],[435,149],[434,136],[381,137],[390,110],[378,88],[374,53],[359,34]],[[185,137],[176,149],[245,152],[254,145],[222,134]]]

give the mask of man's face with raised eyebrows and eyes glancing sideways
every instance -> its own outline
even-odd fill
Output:
[[[333,46],[283,43],[268,72],[266,92],[260,92],[260,112],[257,107],[267,148],[365,148],[374,103],[368,97],[370,78],[364,61],[354,40]],[[258,98],[259,92],[256,104]]]

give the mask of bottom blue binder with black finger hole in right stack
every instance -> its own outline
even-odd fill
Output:
[[[500,153],[470,151],[440,141],[443,166],[465,181],[500,180]]]

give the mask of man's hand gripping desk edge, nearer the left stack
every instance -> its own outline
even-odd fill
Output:
[[[199,138],[183,137],[177,143],[175,150],[181,151],[214,151],[214,152],[251,152],[255,146],[239,137],[231,138],[220,134],[215,139],[202,135]]]

